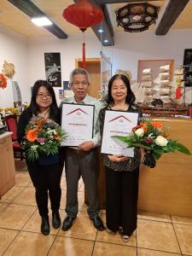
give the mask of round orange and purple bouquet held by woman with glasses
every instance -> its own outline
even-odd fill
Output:
[[[61,126],[53,120],[42,117],[32,118],[26,125],[26,136],[22,143],[23,148],[26,149],[26,158],[34,161],[38,160],[39,154],[58,154],[60,143],[66,137],[66,132],[62,131]]]

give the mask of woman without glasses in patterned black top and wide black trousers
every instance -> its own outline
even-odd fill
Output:
[[[142,113],[136,105],[130,81],[116,74],[108,84],[108,106],[100,112],[101,133],[106,110]],[[106,220],[108,232],[120,229],[123,241],[128,241],[137,229],[138,177],[141,152],[135,148],[133,158],[103,154],[106,169]]]

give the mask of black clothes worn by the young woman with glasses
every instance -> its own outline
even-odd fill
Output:
[[[51,115],[49,117],[56,123],[60,124],[60,113]],[[20,114],[18,122],[18,138],[21,142],[25,136],[26,125],[32,119],[32,111],[26,109]],[[45,165],[42,165],[39,160],[31,162],[26,159],[26,165],[29,175],[32,179],[33,186],[36,190],[36,201],[38,205],[38,212],[42,217],[48,215],[48,198],[50,199],[50,205],[52,212],[57,212],[60,208],[61,201],[61,174],[64,165],[61,152],[58,155],[58,160],[51,160],[48,157]],[[49,196],[48,196],[49,192]]]

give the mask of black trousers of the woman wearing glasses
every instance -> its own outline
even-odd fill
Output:
[[[28,165],[27,167],[36,190],[35,196],[40,216],[48,215],[48,197],[52,212],[58,211],[61,202],[62,166],[54,164],[49,166]]]

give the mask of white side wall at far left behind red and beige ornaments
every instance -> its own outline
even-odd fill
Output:
[[[20,86],[22,99],[26,98],[28,93],[26,39],[0,26],[0,73],[2,72],[4,61],[14,63],[15,75],[13,80],[17,81]],[[11,80],[8,80],[7,88],[0,89],[0,107],[13,106]]]

